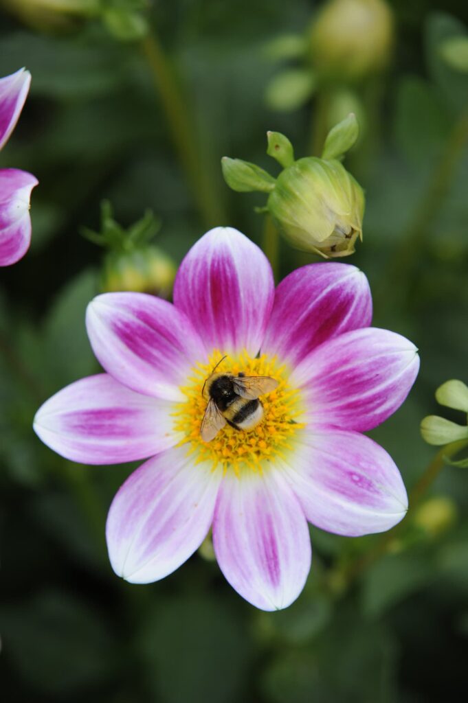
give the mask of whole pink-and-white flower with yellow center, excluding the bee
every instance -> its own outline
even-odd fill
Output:
[[[365,275],[348,264],[293,271],[274,290],[263,252],[232,228],[191,248],[174,304],[108,293],[88,307],[106,373],[58,392],[34,429],[62,456],[106,464],[148,458],[107,521],[110,562],[132,583],[177,569],[213,530],[224,576],[263,610],[296,600],[307,579],[308,522],[358,536],[407,510],[398,468],[360,434],[403,403],[419,368],[412,342],[369,327]],[[224,357],[224,359],[223,359]],[[205,379],[268,375],[264,418],[201,439]]]

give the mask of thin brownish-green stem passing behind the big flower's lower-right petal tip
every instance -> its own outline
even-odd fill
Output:
[[[418,505],[422,497],[426,493],[427,489],[434,483],[435,479],[438,477],[439,473],[445,466],[445,457],[450,458],[457,454],[460,449],[464,449],[467,446],[466,441],[457,441],[447,446],[443,446],[442,449],[436,453],[434,459],[427,465],[426,470],[419,478],[415,486],[413,486],[410,492],[409,505],[412,510]],[[374,547],[369,550],[362,557],[358,557],[355,561],[346,565],[341,572],[341,581],[345,584],[346,589],[362,574],[366,569],[369,568],[374,562],[380,559],[387,553],[388,547],[391,545],[395,536],[400,534],[400,531],[406,527],[405,520],[399,522],[393,529],[388,530],[381,535]],[[346,590],[345,589],[345,590]]]

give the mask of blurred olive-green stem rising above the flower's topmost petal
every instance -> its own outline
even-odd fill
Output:
[[[201,217],[206,226],[222,224],[225,221],[223,209],[208,180],[208,168],[201,162],[186,101],[155,32],[148,33],[142,39],[141,49],[153,74],[172,142]]]

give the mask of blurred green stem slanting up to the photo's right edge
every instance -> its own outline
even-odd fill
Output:
[[[403,287],[406,289],[410,285],[412,271],[424,247],[426,232],[443,204],[457,167],[464,156],[467,142],[468,112],[465,112],[456,122],[445,144],[445,150],[438,167],[434,169],[400,246],[396,247],[393,252],[388,264],[388,274],[385,277],[385,280],[391,281],[391,285],[394,285],[397,278],[403,282]]]

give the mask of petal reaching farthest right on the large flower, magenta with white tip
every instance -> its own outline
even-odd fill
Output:
[[[405,400],[419,370],[417,348],[388,330],[345,333],[311,352],[294,370],[312,425],[365,432]]]

